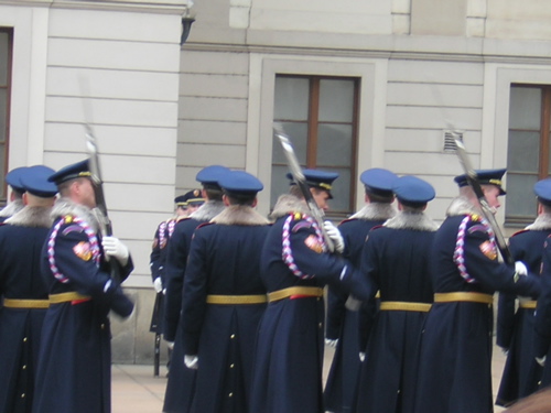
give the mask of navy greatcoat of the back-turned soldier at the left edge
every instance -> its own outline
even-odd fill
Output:
[[[50,208],[43,209],[45,216]],[[0,297],[47,301],[40,273],[50,226],[0,226]],[[1,301],[0,298],[0,301]],[[0,412],[29,413],[46,308],[0,307]]]

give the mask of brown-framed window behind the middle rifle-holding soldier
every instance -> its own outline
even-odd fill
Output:
[[[273,121],[291,137],[301,166],[337,172],[331,216],[352,213],[356,184],[359,79],[346,77],[276,77]],[[271,206],[289,192],[289,172],[279,141],[272,148]]]

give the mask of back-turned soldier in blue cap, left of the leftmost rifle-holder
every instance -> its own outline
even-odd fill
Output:
[[[30,413],[47,290],[40,273],[57,187],[53,170],[21,171],[18,188],[24,207],[0,225],[0,412]],[[3,300],[2,300],[3,298]]]

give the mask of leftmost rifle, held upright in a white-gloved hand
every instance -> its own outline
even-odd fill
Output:
[[[82,89],[84,89],[84,80],[82,80]],[[84,96],[89,96],[88,94]],[[85,129],[85,137],[86,137],[86,152],[88,152],[89,161],[88,165],[90,169],[90,178],[93,182],[94,186],[94,194],[96,195],[96,217],[99,221],[99,226],[101,228],[101,235],[110,237],[112,236],[112,226],[111,226],[111,220],[109,219],[109,214],[107,211],[107,204],[105,200],[105,195],[104,195],[104,181],[101,181],[101,172],[99,169],[99,152],[98,152],[98,145],[96,141],[96,137],[94,134],[94,131],[91,129],[90,122],[88,119],[91,118],[91,108],[89,104],[87,102],[87,99],[83,100],[83,106],[84,106],[84,115],[86,121],[83,123],[84,129]],[[111,279],[116,281],[118,284],[122,282],[121,280],[121,268],[120,263],[117,260],[109,260],[109,258],[106,256],[106,260],[109,261],[109,269],[110,269],[110,274]]]

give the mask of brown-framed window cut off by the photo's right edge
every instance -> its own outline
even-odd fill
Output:
[[[509,107],[505,224],[525,227],[537,216],[533,185],[550,170],[551,86],[512,85]]]

